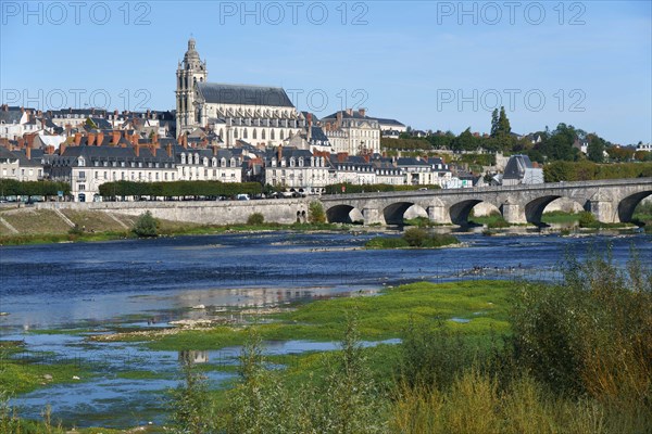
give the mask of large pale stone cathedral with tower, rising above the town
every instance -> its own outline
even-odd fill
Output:
[[[238,140],[277,146],[305,131],[306,119],[283,88],[209,82],[208,76],[191,38],[177,68],[177,136],[205,128],[226,148]]]

